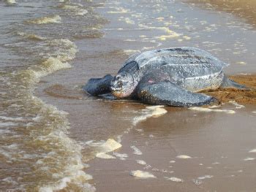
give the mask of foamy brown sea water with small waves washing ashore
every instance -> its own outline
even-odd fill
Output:
[[[34,90],[42,77],[72,68],[74,39],[100,37],[106,22],[83,1],[4,1],[1,6],[1,191],[94,190],[67,112]]]

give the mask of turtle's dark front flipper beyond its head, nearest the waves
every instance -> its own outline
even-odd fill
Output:
[[[92,96],[98,96],[105,93],[110,93],[110,82],[113,77],[110,74],[102,78],[91,78],[83,87],[83,91]]]

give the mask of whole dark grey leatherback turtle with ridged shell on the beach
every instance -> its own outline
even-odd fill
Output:
[[[112,93],[116,98],[147,104],[192,107],[211,104],[214,97],[197,93],[219,87],[246,88],[223,73],[224,62],[194,47],[150,50],[130,56],[116,77],[93,78],[84,86],[92,96]]]

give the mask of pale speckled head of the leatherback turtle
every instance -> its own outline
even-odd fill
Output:
[[[134,78],[128,73],[117,74],[110,83],[111,93],[117,98],[130,96],[135,87]]]

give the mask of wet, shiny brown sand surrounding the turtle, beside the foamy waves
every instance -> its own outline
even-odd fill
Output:
[[[91,77],[115,74],[138,50],[179,46],[208,50],[231,64],[225,69],[230,78],[255,87],[255,28],[236,15],[180,1],[106,2],[97,12],[109,20],[105,35],[77,39],[74,67],[43,78],[36,92],[69,113],[69,137],[82,147],[90,166],[84,170],[94,178],[89,183],[97,191],[254,191],[254,91],[208,91],[223,104],[209,112],[163,107],[167,113],[152,116],[148,105],[94,98],[81,87]],[[114,158],[96,158],[91,144],[108,139],[122,147],[108,153]],[[131,176],[136,170],[154,178]]]

